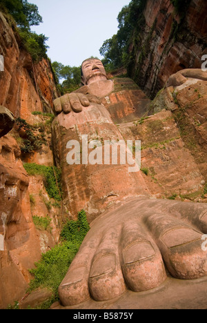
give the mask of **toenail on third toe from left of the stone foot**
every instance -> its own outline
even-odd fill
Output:
[[[155,249],[150,242],[135,242],[124,250],[124,264],[139,262],[155,255]]]

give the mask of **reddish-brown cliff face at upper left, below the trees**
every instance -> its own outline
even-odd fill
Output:
[[[0,54],[4,57],[4,71],[0,72],[0,104],[32,123],[31,112],[51,112],[57,97],[54,77],[46,59],[33,63],[0,12]]]

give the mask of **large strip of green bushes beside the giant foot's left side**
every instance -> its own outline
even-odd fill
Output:
[[[44,253],[41,260],[35,264],[36,268],[30,271],[34,275],[34,280],[30,282],[29,291],[40,286],[47,287],[52,289],[55,295],[51,302],[55,302],[55,299],[58,299],[57,290],[59,284],[63,280],[63,277],[65,277],[89,229],[90,226],[86,218],[86,213],[83,210],[79,212],[77,222],[68,221],[66,223],[61,232],[61,244]],[[51,304],[47,304],[48,308]]]

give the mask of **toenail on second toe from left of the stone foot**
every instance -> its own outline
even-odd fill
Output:
[[[116,268],[116,255],[115,254],[106,254],[97,257],[93,262],[92,268],[90,270],[90,278],[97,277],[110,271],[114,271]]]

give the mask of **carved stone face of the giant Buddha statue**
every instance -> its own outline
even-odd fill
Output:
[[[99,59],[86,59],[82,63],[81,70],[84,85],[107,79],[106,71]]]

